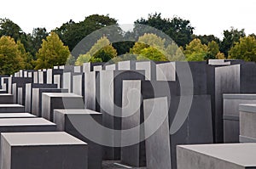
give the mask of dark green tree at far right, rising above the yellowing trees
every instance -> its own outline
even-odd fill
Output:
[[[233,27],[231,27],[230,31],[225,30],[223,41],[220,42],[220,46],[219,46],[220,51],[224,53],[225,57],[227,58],[230,48],[232,48],[236,42],[239,42],[239,39],[241,37],[245,37],[245,36],[246,35],[244,32],[244,29],[242,29],[241,31],[238,31],[237,29],[234,29]]]

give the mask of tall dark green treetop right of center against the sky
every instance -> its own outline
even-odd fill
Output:
[[[152,26],[160,31],[163,31],[172,38],[178,46],[185,47],[192,40],[193,30],[189,20],[183,20],[178,17],[170,19],[162,19],[161,14],[149,14],[148,19],[140,19],[135,21],[136,24]]]

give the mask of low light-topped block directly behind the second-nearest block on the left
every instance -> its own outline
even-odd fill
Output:
[[[82,96],[73,93],[43,93],[42,117],[53,121],[55,109],[84,109]]]

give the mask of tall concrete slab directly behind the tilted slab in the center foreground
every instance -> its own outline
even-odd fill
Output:
[[[167,97],[170,103],[171,98],[174,99],[179,94],[177,88],[177,82],[125,80],[123,82],[122,129],[131,129],[143,123],[143,99]],[[132,132],[132,135],[124,135],[121,138],[123,145],[129,143],[130,140],[143,138],[143,131],[136,130]],[[122,147],[121,161],[128,166],[146,166],[145,142]]]

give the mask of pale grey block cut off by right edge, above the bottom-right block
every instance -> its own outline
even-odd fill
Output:
[[[256,143],[256,104],[240,104],[240,142]]]

